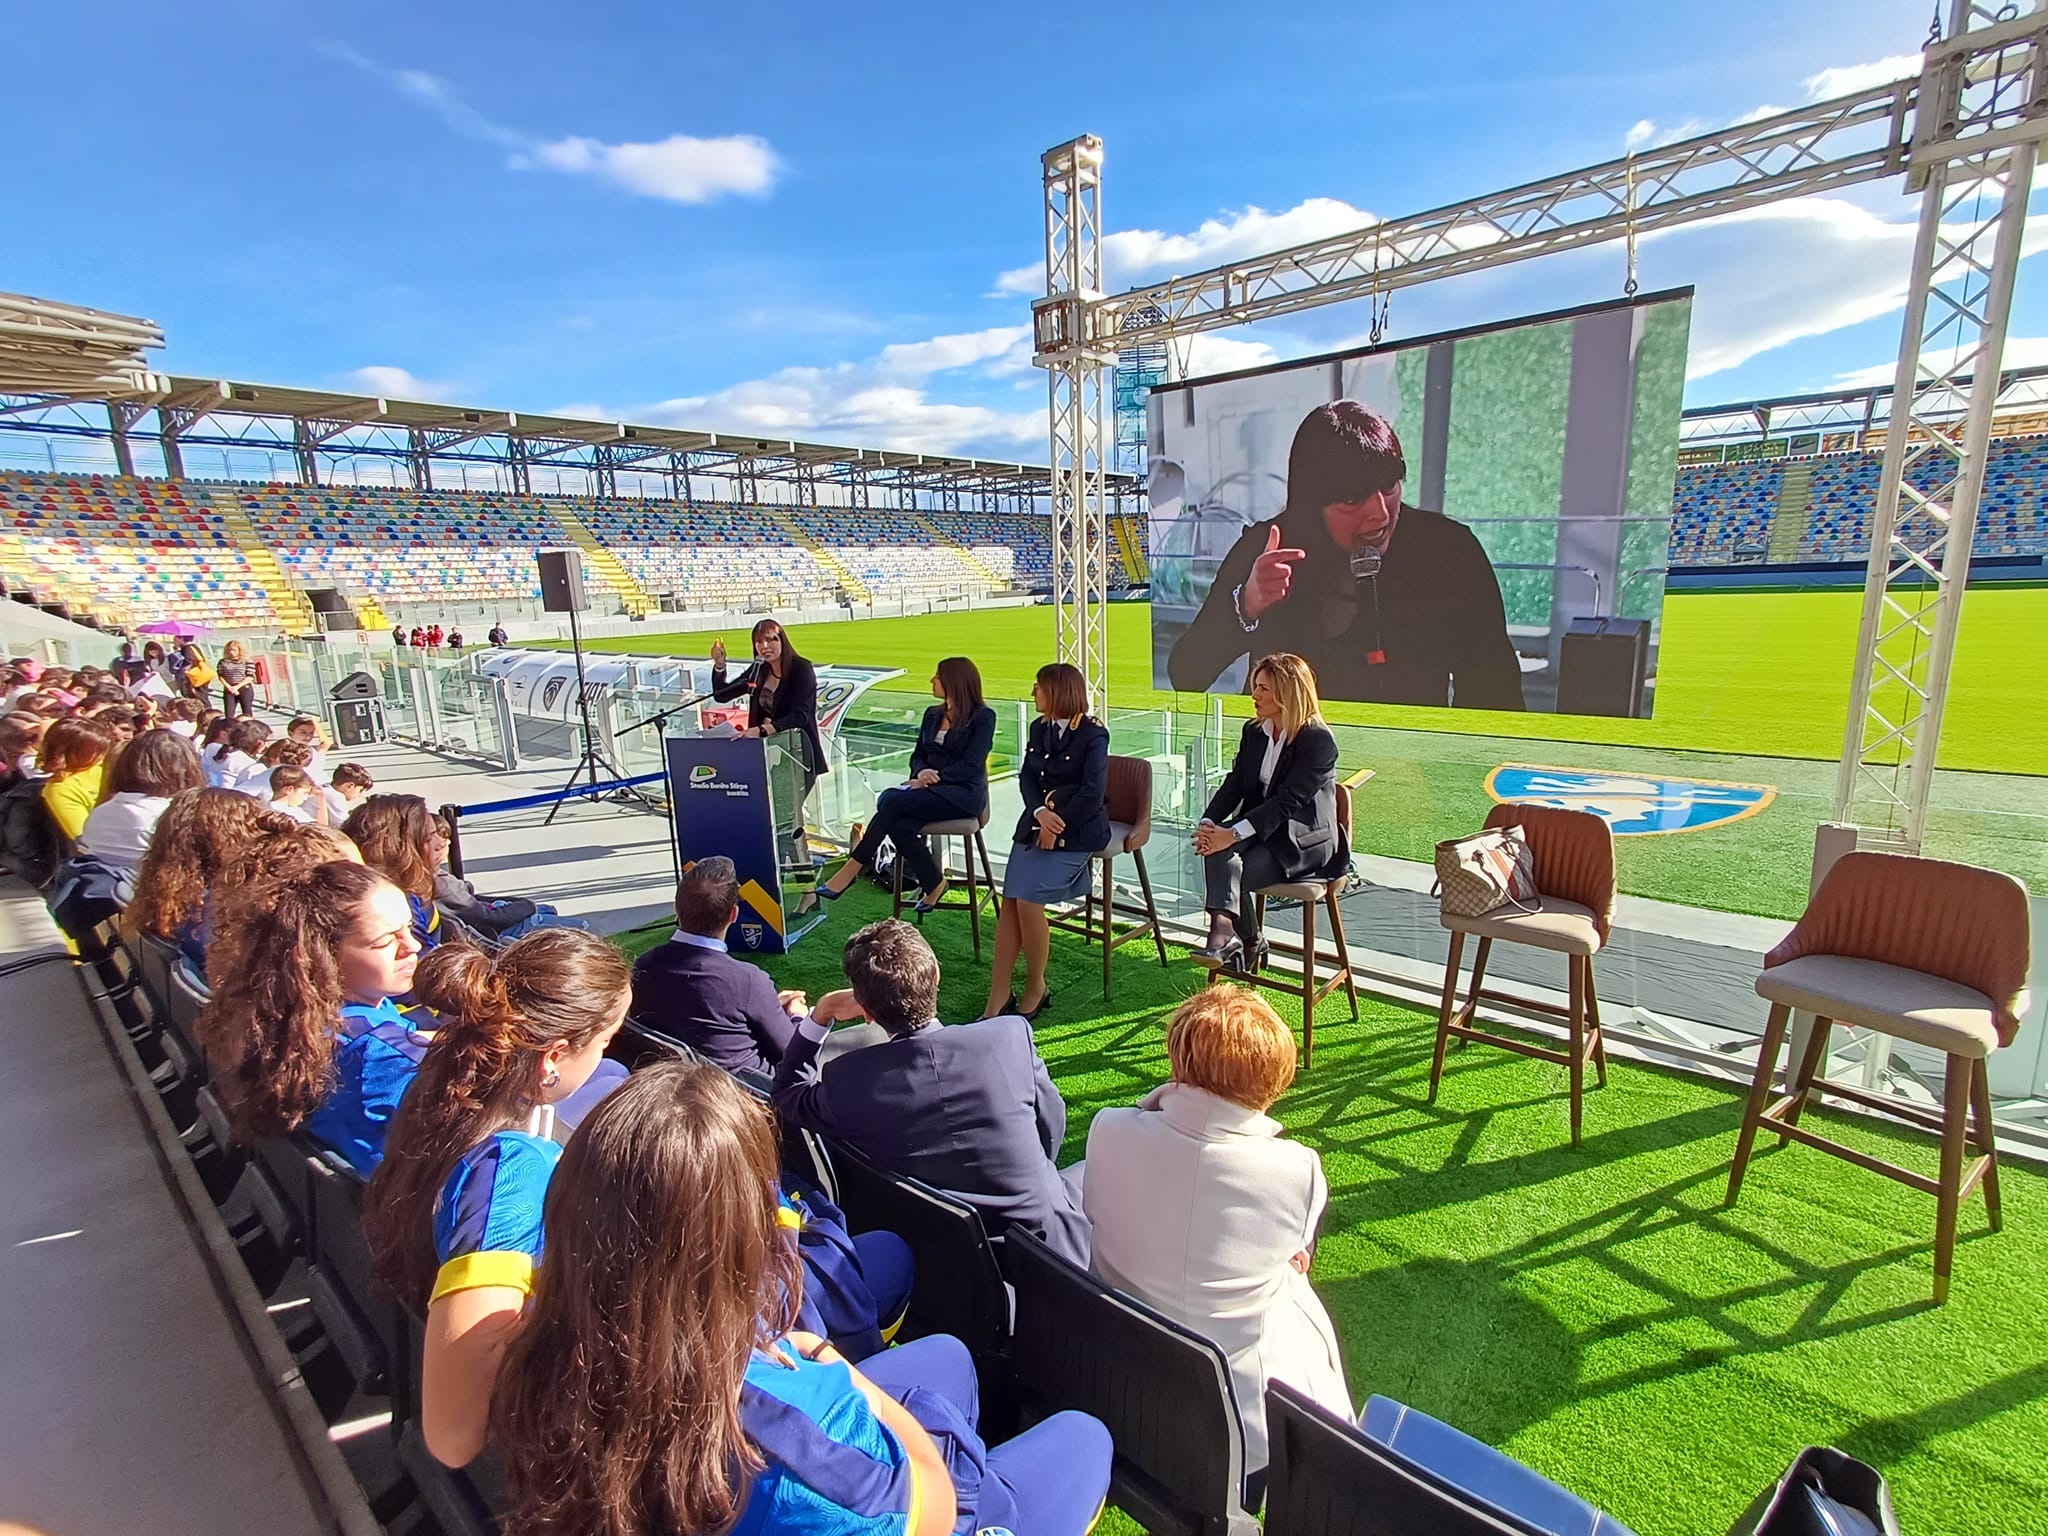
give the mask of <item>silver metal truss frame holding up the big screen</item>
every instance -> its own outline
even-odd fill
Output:
[[[1102,377],[1120,348],[1348,299],[1382,301],[1417,283],[1907,174],[1923,199],[1921,236],[1835,813],[1866,825],[1874,844],[1917,848],[2025,195],[2048,133],[2040,6],[1950,0],[1946,37],[1925,49],[1919,78],[1116,295],[1100,293],[1102,141],[1049,152],[1047,297],[1034,307],[1034,360],[1053,381],[1055,537],[1061,526],[1073,537],[1102,526],[1102,502],[1092,500],[1100,473],[1090,465],[1100,467]],[[1933,489],[1921,485],[1929,455],[1944,465]],[[1063,635],[1092,633],[1098,592],[1085,584],[1059,590],[1073,608]],[[1100,694],[1100,651],[1083,645],[1063,655],[1083,666]]]

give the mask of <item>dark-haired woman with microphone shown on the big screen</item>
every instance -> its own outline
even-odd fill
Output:
[[[1243,655],[1290,651],[1329,698],[1522,709],[1501,584],[1477,535],[1401,500],[1393,424],[1356,399],[1294,430],[1286,508],[1253,522],[1217,567],[1167,655],[1174,688],[1204,692]]]

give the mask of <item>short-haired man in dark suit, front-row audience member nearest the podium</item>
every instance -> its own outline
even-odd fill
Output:
[[[690,864],[676,887],[674,938],[633,965],[633,1018],[727,1071],[766,1077],[797,1032],[805,997],[778,993],[766,971],[725,952],[737,918],[733,860]]]

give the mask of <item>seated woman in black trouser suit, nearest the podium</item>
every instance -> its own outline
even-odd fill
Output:
[[[981,670],[965,655],[948,655],[932,674],[932,696],[942,700],[924,713],[918,748],[909,754],[909,778],[885,788],[874,815],[852,854],[831,879],[817,887],[825,901],[838,901],[860,872],[874,864],[883,840],[918,881],[918,911],[932,911],[946,891],[946,874],[932,858],[932,844],[918,829],[926,821],[977,817],[989,803],[989,748],[995,745],[995,711],[981,700]],[[809,911],[805,901],[797,911]]]

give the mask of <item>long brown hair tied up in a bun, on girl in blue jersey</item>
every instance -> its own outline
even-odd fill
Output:
[[[412,991],[440,1028],[391,1122],[362,1225],[385,1284],[424,1309],[440,1186],[469,1149],[532,1112],[551,1044],[582,1051],[612,1026],[633,967],[596,934],[541,928],[496,956],[442,944],[420,961]]]

